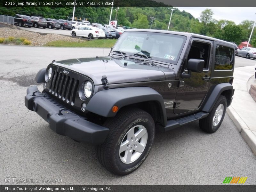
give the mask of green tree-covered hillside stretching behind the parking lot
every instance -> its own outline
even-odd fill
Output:
[[[173,8],[169,30],[191,32],[239,44],[248,41],[254,21],[244,20],[236,25],[230,20],[213,19],[214,12],[206,9],[200,18],[195,19],[188,12]],[[91,23],[107,24],[111,7],[76,7],[75,17],[87,19]],[[116,11],[117,10],[117,11]],[[45,18],[68,19],[72,17],[73,7],[0,7],[0,15],[15,14],[38,15]],[[132,28],[151,28],[167,30],[171,11],[168,7],[113,7],[111,20]],[[256,30],[250,42],[256,47]]]

